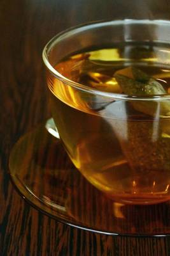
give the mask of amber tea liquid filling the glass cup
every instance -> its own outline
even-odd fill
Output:
[[[92,48],[68,56],[55,69],[89,88],[119,94],[124,92],[115,72],[138,67],[168,94],[169,65],[170,50],[164,45],[137,44]],[[47,80],[60,139],[76,168],[94,186],[127,204],[170,199],[170,118],[160,115],[159,102],[155,113],[148,115],[131,100],[78,90],[50,73]]]

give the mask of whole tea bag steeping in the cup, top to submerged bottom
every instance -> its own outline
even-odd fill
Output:
[[[124,122],[115,121],[113,129],[118,129],[122,151],[132,170],[137,174],[147,174],[145,181],[150,186],[150,182],[161,179],[164,176],[163,172],[167,176],[170,170],[170,102],[167,99],[148,100],[151,95],[166,94],[166,90],[162,84],[137,68],[118,70],[115,72],[115,79],[125,94],[143,97],[141,100],[127,101],[127,104],[138,113],[136,116],[139,115],[141,118],[127,116]],[[124,140],[120,124],[127,127]],[[166,189],[164,180],[159,189]]]

